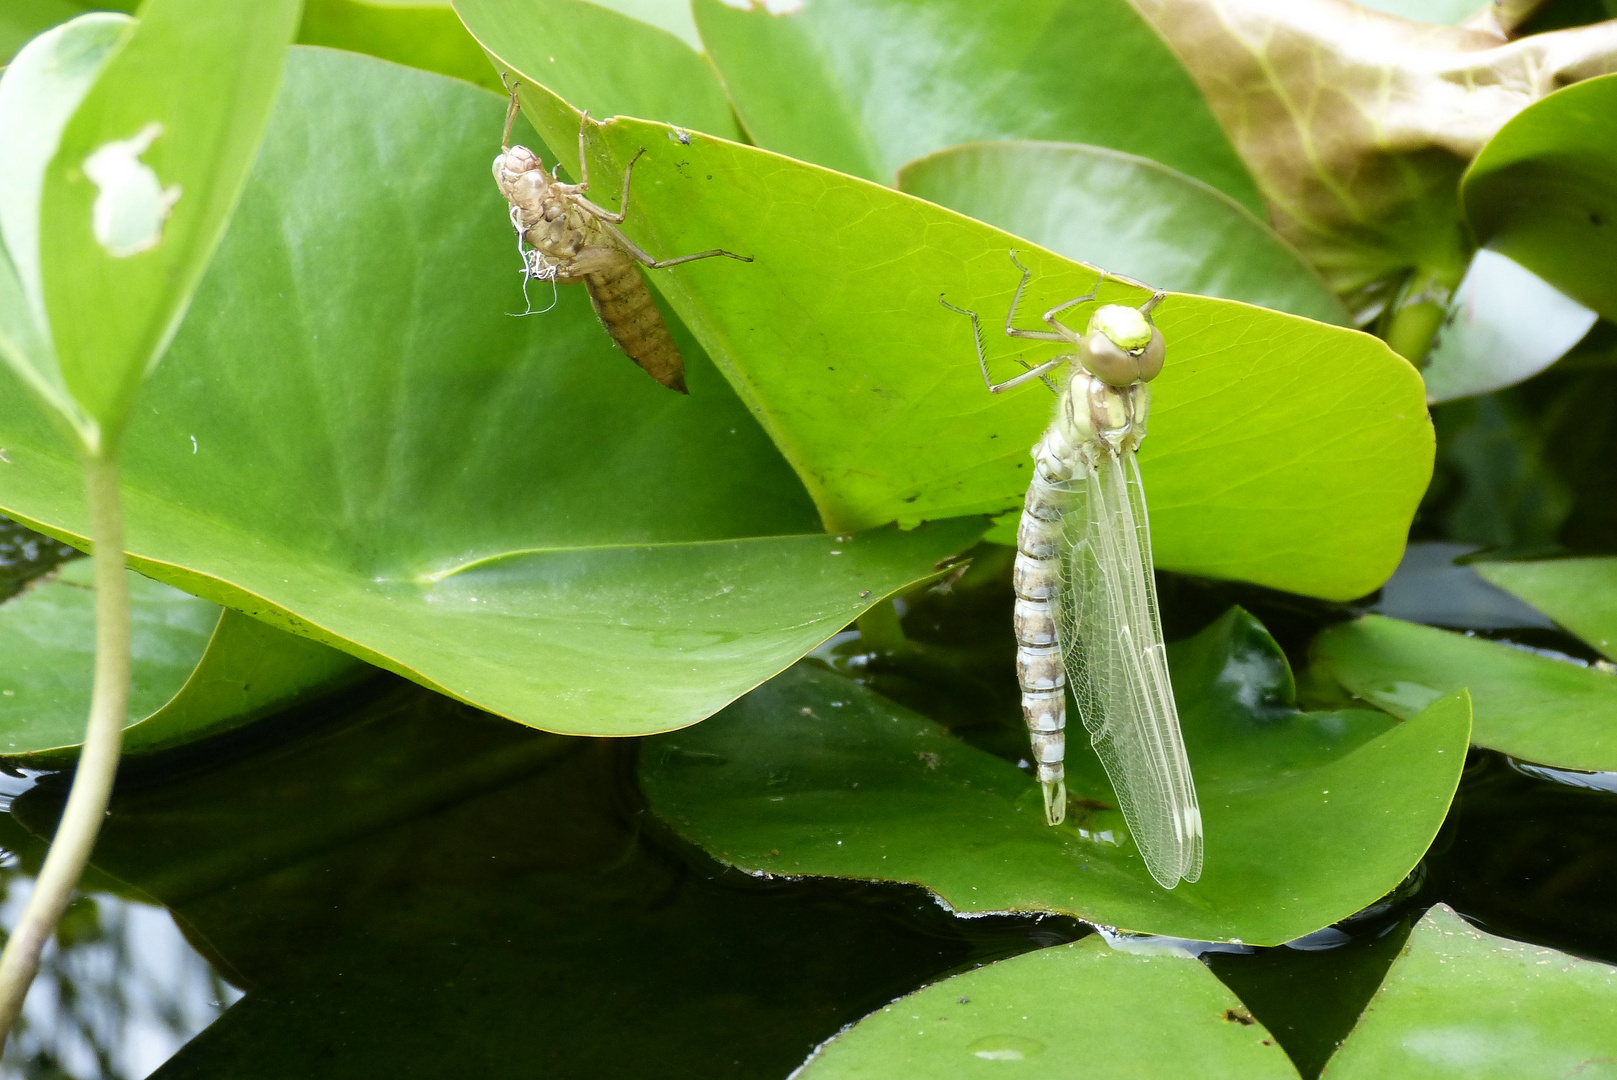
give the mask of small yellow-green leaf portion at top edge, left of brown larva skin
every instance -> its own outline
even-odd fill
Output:
[[[346,49],[503,92],[450,0],[304,0],[298,42]]]

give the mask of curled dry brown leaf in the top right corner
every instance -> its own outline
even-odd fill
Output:
[[[1617,71],[1617,19],[1520,40],[1349,0],[1134,0],[1201,87],[1269,217],[1362,320],[1465,272],[1455,191],[1549,92]],[[1408,278],[1415,270],[1416,276]]]

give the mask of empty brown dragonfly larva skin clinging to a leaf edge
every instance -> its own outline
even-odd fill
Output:
[[[661,385],[689,393],[686,362],[635,264],[648,270],[666,270],[716,255],[741,262],[752,262],[752,257],[715,247],[694,255],[653,259],[618,228],[629,217],[629,178],[645,147],[623,170],[618,212],[598,207],[585,197],[590,189],[585,155],[589,110],[579,118],[579,183],[563,184],[545,170],[537,154],[526,146],[511,146],[511,124],[521,107],[516,99],[517,84],[508,89],[511,105],[506,108],[505,134],[495,157],[495,183],[511,204],[516,249],[522,255],[522,294],[527,296],[527,283],[534,278],[550,281],[551,286],[558,281],[584,281],[595,317],[618,348]]]

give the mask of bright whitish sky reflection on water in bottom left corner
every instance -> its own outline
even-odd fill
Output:
[[[32,892],[16,857],[0,870],[0,925]],[[241,991],[192,949],[170,913],[110,892],[81,894],[0,1061],[8,1080],[141,1080],[218,1019]]]

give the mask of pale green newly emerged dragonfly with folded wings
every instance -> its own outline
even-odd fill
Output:
[[[1124,821],[1146,870],[1164,889],[1201,876],[1201,810],[1167,679],[1167,650],[1151,574],[1151,529],[1135,451],[1145,438],[1151,391],[1166,344],[1151,312],[1104,304],[1083,333],[1058,315],[1096,297],[1101,272],[1083,296],[1043,315],[1049,330],[1014,325],[1032,272],[1022,272],[1006,335],[1074,346],[996,383],[988,373],[977,312],[969,315],[977,364],[991,393],[1041,380],[1056,393],[1056,417],[1033,448],[1033,479],[1022,504],[1015,556],[1017,679],[1045,820],[1067,813],[1066,694],[1070,687],[1090,742],[1106,766]],[[1064,369],[1064,370],[1058,370]],[[1058,382],[1059,380],[1059,382]]]

